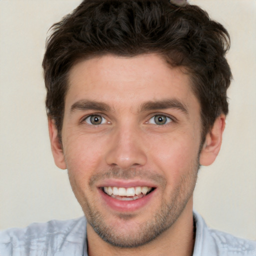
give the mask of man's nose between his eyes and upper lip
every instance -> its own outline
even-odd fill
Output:
[[[108,165],[117,165],[122,169],[142,166],[146,163],[147,156],[141,133],[138,128],[125,126],[115,128],[112,132],[105,161]]]

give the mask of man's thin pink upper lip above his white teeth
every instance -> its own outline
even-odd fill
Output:
[[[148,186],[148,187],[156,187],[151,181],[148,180],[139,180],[139,179],[105,179],[100,182],[98,187],[104,186],[116,186],[116,187],[135,187],[135,186]]]

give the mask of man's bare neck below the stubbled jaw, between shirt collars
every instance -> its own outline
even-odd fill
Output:
[[[88,255],[169,255],[169,256],[192,256],[194,246],[194,228],[192,215],[192,198],[186,204],[186,207],[179,215],[178,219],[157,236],[151,242],[135,248],[120,248],[112,246],[103,241],[87,225]]]

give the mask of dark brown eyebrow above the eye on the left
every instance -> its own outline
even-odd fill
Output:
[[[93,109],[97,111],[110,111],[111,107],[103,102],[94,100],[79,100],[73,103],[70,107],[70,113],[74,110],[87,110]]]

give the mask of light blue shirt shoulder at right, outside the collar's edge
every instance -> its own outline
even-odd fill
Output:
[[[239,238],[215,229],[209,229],[209,233],[223,255],[256,256],[256,241]]]

